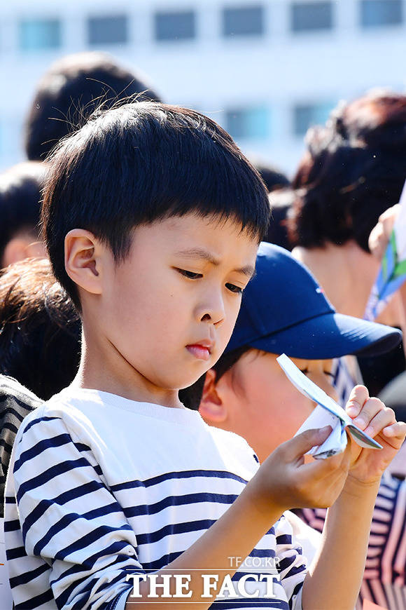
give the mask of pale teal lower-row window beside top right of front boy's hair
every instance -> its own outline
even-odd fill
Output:
[[[225,129],[236,140],[269,137],[269,109],[266,107],[230,109],[225,114]]]

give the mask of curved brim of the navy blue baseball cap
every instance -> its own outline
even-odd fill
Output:
[[[348,354],[379,355],[391,351],[401,340],[402,332],[391,326],[325,313],[247,344],[292,358],[328,360]]]

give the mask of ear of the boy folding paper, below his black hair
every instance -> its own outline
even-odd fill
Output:
[[[69,278],[92,294],[102,294],[104,248],[90,231],[72,229],[65,237],[65,269]]]

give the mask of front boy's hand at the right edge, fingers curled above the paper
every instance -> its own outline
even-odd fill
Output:
[[[345,409],[356,426],[383,447],[365,449],[351,441],[349,477],[362,484],[377,482],[405,440],[406,423],[396,421],[393,410],[379,398],[370,398],[365,386],[353,388]]]

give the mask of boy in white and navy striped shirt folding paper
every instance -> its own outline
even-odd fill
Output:
[[[262,588],[219,607],[353,607],[381,472],[406,426],[358,387],[351,408],[374,419],[384,449],[353,445],[304,464],[327,428],[258,468],[244,440],[207,426],[178,397],[230,339],[268,215],[258,174],[195,111],[129,104],[56,151],[43,229],[80,311],[83,350],[73,384],[16,436],[5,529],[17,609],[204,610],[225,572],[243,582],[236,572],[248,556],[264,562],[262,574],[278,557],[273,597]],[[281,515],[332,503],[307,571]],[[169,578],[173,597],[155,595],[151,571]],[[179,571],[188,593],[170,578]],[[213,573],[219,582],[208,588],[202,575]],[[139,593],[137,574],[146,579]]]

